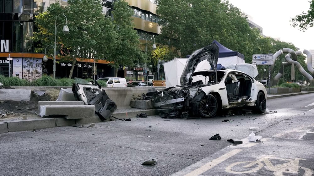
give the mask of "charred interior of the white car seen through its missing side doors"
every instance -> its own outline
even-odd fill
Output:
[[[251,95],[252,80],[244,74],[232,73],[225,79],[228,101],[248,99]]]

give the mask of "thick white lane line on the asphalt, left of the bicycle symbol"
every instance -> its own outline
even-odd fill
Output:
[[[232,151],[229,151],[228,153],[226,153],[225,155],[222,155],[221,157],[219,158],[216,158],[214,159],[213,161],[211,162],[208,162],[207,164],[203,165],[202,167],[198,168],[198,169],[195,169],[194,171],[186,174],[185,176],[197,176],[197,175],[200,175],[206,171],[208,171],[209,169],[213,168],[214,166],[216,166],[217,164],[225,161],[226,159],[238,154],[240,151],[243,151],[243,150],[240,150],[240,149],[236,149],[236,150],[232,150]]]

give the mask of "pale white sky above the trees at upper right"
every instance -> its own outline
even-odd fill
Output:
[[[263,28],[263,34],[291,42],[303,52],[314,49],[314,27],[305,32],[293,28],[290,19],[310,8],[310,0],[229,0],[231,4],[250,15]]]

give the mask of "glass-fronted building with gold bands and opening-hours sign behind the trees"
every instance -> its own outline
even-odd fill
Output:
[[[111,15],[114,8],[113,0],[103,0],[103,12]],[[52,3],[60,3],[67,5],[67,0],[0,0],[0,74],[8,76],[8,60],[11,61],[11,76],[26,78],[32,70],[25,68],[26,63],[30,62],[30,58],[35,58],[34,63],[41,63],[44,56],[43,53],[34,52],[34,43],[30,39],[34,32],[35,14],[46,10]],[[126,0],[127,3],[134,10],[134,29],[137,30],[140,41],[145,44],[148,36],[156,36],[160,33],[160,26],[158,26],[158,16],[156,15],[156,4],[153,0]],[[151,41],[149,41],[151,42]],[[148,43],[149,43],[148,42]],[[150,45],[151,47],[151,45]],[[145,48],[143,48],[143,51]],[[57,51],[58,53],[58,51]],[[52,59],[48,59],[46,66],[39,68],[37,72],[47,75],[53,74]],[[95,66],[95,67],[94,67]],[[119,77],[130,77],[133,80],[143,80],[143,67],[136,66],[120,66],[118,69]],[[70,64],[57,63],[56,78],[68,77],[70,73]],[[45,70],[45,71],[44,71]],[[108,65],[105,60],[98,60],[94,63],[93,59],[79,60],[78,65],[75,66],[73,77],[79,78],[93,78],[94,71],[97,77],[112,77],[115,76],[115,69]],[[46,72],[46,73],[45,73]],[[147,74],[153,74],[148,72]]]

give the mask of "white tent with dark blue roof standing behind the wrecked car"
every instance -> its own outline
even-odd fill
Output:
[[[237,63],[245,63],[244,62],[244,55],[232,51],[229,48],[221,45],[218,41],[213,41],[219,47],[219,55],[218,55],[218,62],[222,66],[229,66],[235,65]],[[188,55],[187,57],[189,57]],[[188,58],[174,58],[171,61],[165,62],[164,71],[165,71],[165,78],[166,78],[166,87],[176,87],[176,85],[180,85],[180,77],[187,63]],[[203,60],[200,62],[195,71],[203,70],[203,69],[211,69],[207,60]]]

